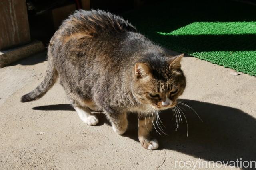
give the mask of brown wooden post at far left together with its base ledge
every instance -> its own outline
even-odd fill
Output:
[[[0,68],[43,50],[30,42],[26,0],[0,0]]]

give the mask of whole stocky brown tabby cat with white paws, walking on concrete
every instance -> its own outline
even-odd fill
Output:
[[[54,33],[47,55],[44,80],[21,102],[41,98],[59,78],[82,121],[96,125],[92,111],[101,111],[122,135],[128,127],[126,114],[136,112],[141,145],[158,148],[150,135],[156,117],[146,113],[176,105],[186,87],[180,64],[184,54],[170,55],[110,12],[78,10]]]

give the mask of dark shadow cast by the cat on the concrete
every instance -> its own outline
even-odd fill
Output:
[[[185,104],[193,107],[200,115],[197,115],[184,107],[186,119],[188,120],[188,137],[185,119],[175,131],[176,119],[172,119],[172,111],[164,111],[160,114],[162,123],[166,126],[164,132],[167,135],[157,135],[160,143],[159,149],[175,150],[210,161],[254,161],[256,159],[256,119],[239,109],[221,106],[195,100],[182,100]],[[40,110],[74,110],[68,104],[39,106],[33,109]],[[104,116],[100,121],[108,123]],[[135,114],[128,116],[129,129],[124,134],[138,141],[137,117]],[[159,129],[158,129],[159,131]],[[238,164],[239,166],[239,164]],[[243,168],[246,169],[246,168]]]

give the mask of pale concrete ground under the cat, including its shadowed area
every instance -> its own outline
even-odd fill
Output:
[[[59,84],[40,100],[21,103],[43,79],[46,65],[41,53],[0,69],[0,169],[193,169],[193,163],[194,169],[206,169],[204,160],[211,161],[210,169],[223,169],[218,161],[238,159],[239,167],[256,160],[255,77],[184,57],[187,88],[181,99],[203,122],[184,107],[187,137],[186,123],[174,131],[172,112],[162,113],[169,135],[157,135],[160,148],[150,151],[138,142],[134,115],[123,136],[103,115],[98,126],[86,125]]]

